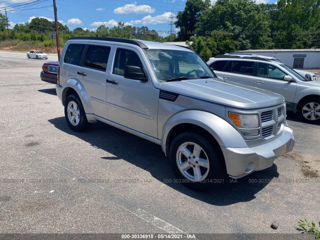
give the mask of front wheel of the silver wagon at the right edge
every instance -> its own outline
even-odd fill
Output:
[[[297,115],[299,118],[307,123],[320,122],[320,97],[309,97],[297,106]]]

